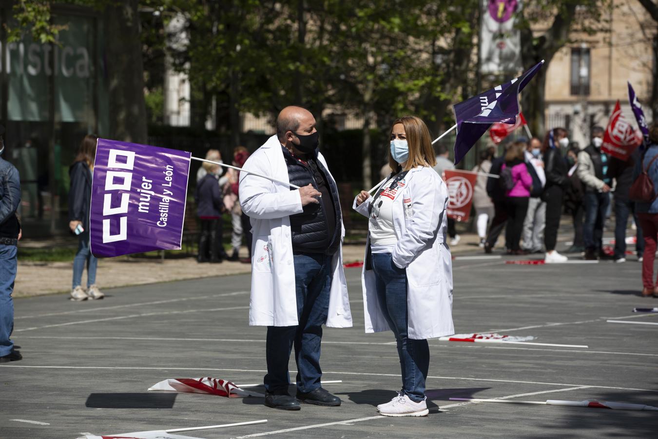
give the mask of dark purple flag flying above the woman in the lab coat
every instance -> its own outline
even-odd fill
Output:
[[[519,92],[542,68],[544,61],[530,68],[519,78],[484,91],[466,101],[453,105],[457,120],[457,140],[455,140],[455,164],[464,158],[495,122],[515,124],[520,113]]]

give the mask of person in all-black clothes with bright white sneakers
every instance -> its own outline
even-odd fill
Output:
[[[569,133],[564,128],[553,128],[544,136],[542,151],[544,153],[544,170],[546,186],[542,199],[546,202],[546,227],[544,229],[544,245],[546,246],[547,263],[567,261],[567,257],[555,251],[557,244],[557,229],[562,215],[562,199],[565,190],[569,188],[569,168],[562,156],[562,151],[569,145]]]

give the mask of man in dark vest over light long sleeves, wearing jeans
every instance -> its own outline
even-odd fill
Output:
[[[585,223],[582,237],[585,242],[585,259],[595,261],[605,258],[603,253],[603,228],[605,213],[610,205],[609,157],[601,151],[603,145],[603,128],[592,128],[592,142],[578,153],[578,168],[576,173],[585,186]]]

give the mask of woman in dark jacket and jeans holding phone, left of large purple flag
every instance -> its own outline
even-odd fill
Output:
[[[96,286],[98,259],[89,249],[89,207],[91,206],[91,172],[96,156],[97,137],[88,134],[80,142],[78,155],[68,169],[68,227],[78,236],[78,253],[73,259],[73,286],[71,300],[102,299],[105,297]],[[87,265],[87,291],[82,288],[82,272]]]

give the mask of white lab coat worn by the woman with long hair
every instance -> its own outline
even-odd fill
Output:
[[[447,187],[429,167],[409,170],[393,199],[393,226],[397,244],[393,263],[407,269],[409,338],[424,340],[455,333],[452,320],[452,257],[445,244]],[[353,208],[368,217],[372,197]],[[377,301],[374,271],[367,267],[370,236],[361,274],[366,332],[390,330]]]

